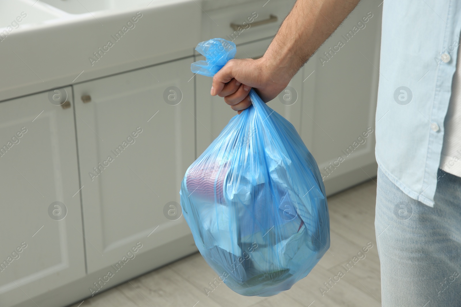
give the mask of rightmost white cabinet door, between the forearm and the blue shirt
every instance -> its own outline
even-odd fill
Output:
[[[319,164],[327,194],[377,173],[374,122],[381,7],[362,0],[304,66],[304,78],[310,76],[303,82],[301,138]],[[354,28],[359,30],[350,38]],[[344,45],[338,50],[339,41]]]

